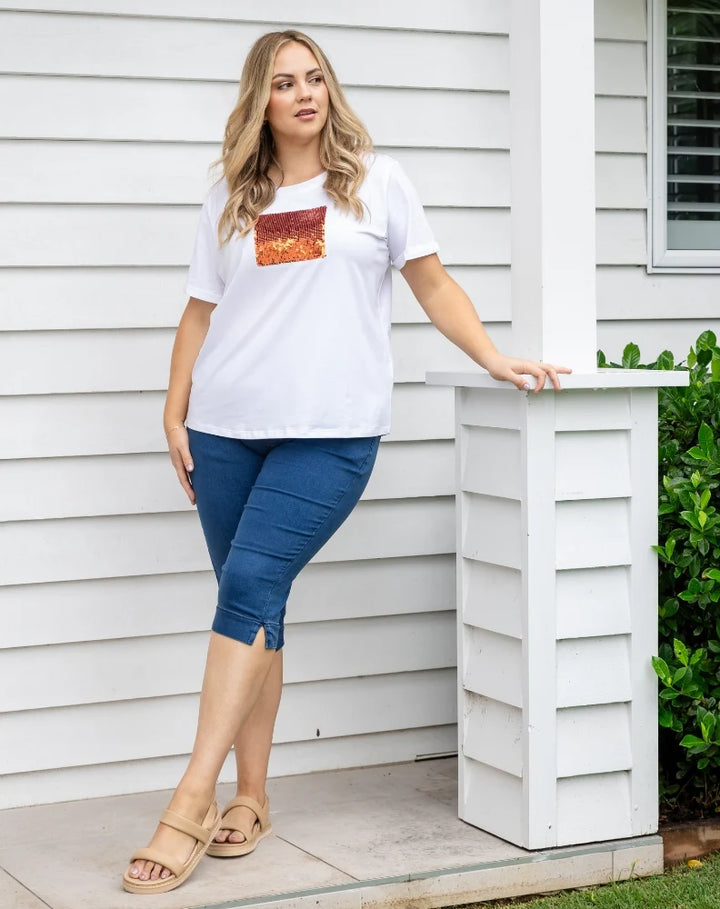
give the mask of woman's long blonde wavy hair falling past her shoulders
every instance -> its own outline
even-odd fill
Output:
[[[330,61],[317,44],[302,32],[269,32],[253,44],[245,60],[238,101],[228,117],[222,155],[213,167],[222,165],[229,198],[218,223],[222,246],[237,230],[249,233],[258,215],[275,198],[275,184],[268,168],[276,164],[265,109],[270,100],[275,55],[285,44],[304,44],[315,56],[328,90],[328,118],[320,134],[320,163],[327,177],[325,191],[343,211],[362,218],[358,190],[365,178],[365,158],[372,141],[362,121],[345,99]]]

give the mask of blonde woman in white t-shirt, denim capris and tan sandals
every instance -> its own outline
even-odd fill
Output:
[[[436,255],[417,196],[370,138],[330,63],[298,32],[260,38],[208,194],[165,408],[170,456],[218,578],[197,735],[125,889],[181,884],[207,851],[270,831],[265,778],[282,688],[285,601],[359,499],[389,430],[390,264],[451,341],[535,391],[549,364],[498,353]],[[191,480],[192,477],[192,480]],[[237,793],[215,785],[234,745]]]

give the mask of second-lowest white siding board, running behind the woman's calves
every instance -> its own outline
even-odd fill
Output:
[[[185,694],[5,713],[0,773],[187,754],[197,700]],[[275,741],[445,725],[456,719],[455,700],[454,669],[301,682],[287,686]],[[133,735],[127,735],[130,727]]]

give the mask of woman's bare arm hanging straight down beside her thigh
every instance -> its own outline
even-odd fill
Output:
[[[192,505],[195,504],[195,492],[190,482],[193,463],[185,429],[185,417],[190,400],[193,366],[210,326],[213,309],[215,304],[206,300],[197,300],[195,297],[188,300],[175,335],[163,417],[170,460]]]

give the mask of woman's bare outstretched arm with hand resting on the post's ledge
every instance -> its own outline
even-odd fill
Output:
[[[548,376],[559,391],[558,373],[572,372],[565,366],[520,360],[499,353],[468,295],[453,281],[436,255],[408,259],[401,273],[430,321],[460,350],[487,369],[493,379],[512,382],[521,391],[529,391],[524,376],[535,376],[537,393]]]

